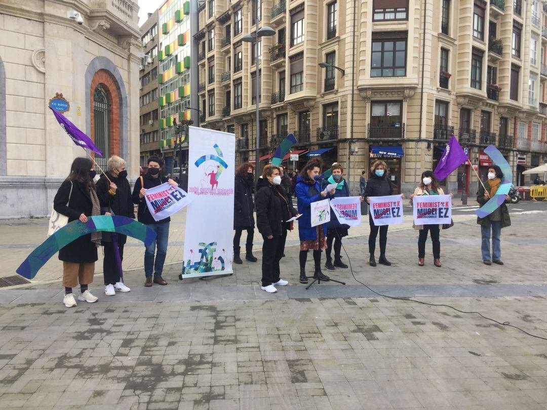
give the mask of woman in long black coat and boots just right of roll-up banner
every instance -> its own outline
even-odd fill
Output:
[[[234,263],[243,263],[240,257],[241,232],[247,231],[245,259],[256,262],[253,255],[254,204],[253,204],[254,165],[246,162],[237,168],[234,183]]]

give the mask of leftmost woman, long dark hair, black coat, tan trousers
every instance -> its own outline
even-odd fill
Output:
[[[101,205],[95,191],[95,165],[89,158],[78,157],[72,161],[71,171],[63,181],[53,200],[53,209],[68,216],[68,222],[79,220],[84,224],[89,216],[101,214]],[[79,301],[96,302],[98,298],[89,291],[95,274],[97,247],[101,244],[101,232],[80,236],[59,250],[59,260],[63,262],[63,286],[66,307],[76,306],[72,293],[80,284]]]

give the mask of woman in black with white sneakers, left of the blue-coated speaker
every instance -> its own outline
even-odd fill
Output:
[[[280,172],[280,167],[275,165],[264,167],[255,198],[257,227],[264,239],[261,289],[268,293],[277,292],[276,285],[288,284],[281,278],[279,261],[285,249],[287,230],[290,229],[287,221],[298,214],[290,204],[286,191],[281,188]]]

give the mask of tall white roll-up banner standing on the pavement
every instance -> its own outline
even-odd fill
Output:
[[[181,278],[232,273],[235,135],[190,127]],[[228,169],[228,172],[223,172]]]

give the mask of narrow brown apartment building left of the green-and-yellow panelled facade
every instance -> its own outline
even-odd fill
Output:
[[[158,28],[158,10],[156,10],[154,13],[148,13],[148,19],[141,26],[141,40],[145,56],[142,58],[142,63],[139,67],[139,77],[141,80],[139,87],[141,166],[147,165],[149,156],[161,154],[158,105],[160,95],[158,84],[160,36]]]

